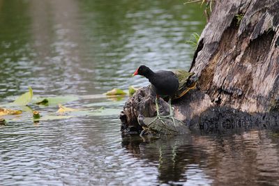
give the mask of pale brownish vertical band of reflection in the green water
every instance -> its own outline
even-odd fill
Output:
[[[36,52],[33,78],[43,84],[35,84],[33,89],[44,94],[62,94],[71,89],[84,91],[83,86],[77,86],[77,82],[84,84],[84,67],[79,63],[83,51],[78,46],[82,43],[82,33],[76,19],[77,1],[31,0],[29,3],[31,32],[36,41],[32,43]]]

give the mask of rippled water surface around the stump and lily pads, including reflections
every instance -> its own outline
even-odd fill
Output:
[[[146,85],[131,77],[140,64],[190,67],[186,40],[205,22],[183,2],[0,0],[0,102],[31,86],[79,95],[68,107],[120,110],[127,98],[88,95]],[[279,185],[279,132],[142,139],[119,128],[116,114],[1,126],[0,185]]]

